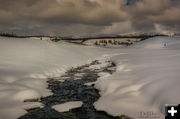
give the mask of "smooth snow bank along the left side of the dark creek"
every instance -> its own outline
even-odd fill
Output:
[[[24,100],[51,94],[46,89],[48,78],[97,59],[106,50],[37,38],[0,37],[0,117],[15,119],[25,114]]]

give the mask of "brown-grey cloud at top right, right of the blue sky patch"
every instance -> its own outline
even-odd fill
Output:
[[[131,22],[137,29],[153,29],[154,24],[167,27],[180,24],[180,2],[177,0],[140,0],[129,7]],[[179,28],[180,29],[180,28]]]

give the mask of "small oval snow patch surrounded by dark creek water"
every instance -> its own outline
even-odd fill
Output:
[[[81,101],[73,101],[73,102],[67,102],[64,104],[52,106],[52,108],[58,112],[67,112],[71,109],[81,107],[82,104],[83,104],[83,102],[81,102]]]

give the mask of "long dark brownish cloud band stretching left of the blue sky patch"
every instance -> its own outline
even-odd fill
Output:
[[[47,23],[110,24],[124,20],[126,14],[119,11],[114,2],[88,0],[1,0],[1,23],[13,20]],[[9,23],[8,23],[9,24]]]

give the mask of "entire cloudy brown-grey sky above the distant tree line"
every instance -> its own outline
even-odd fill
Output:
[[[0,31],[92,36],[180,30],[180,0],[0,0]]]

